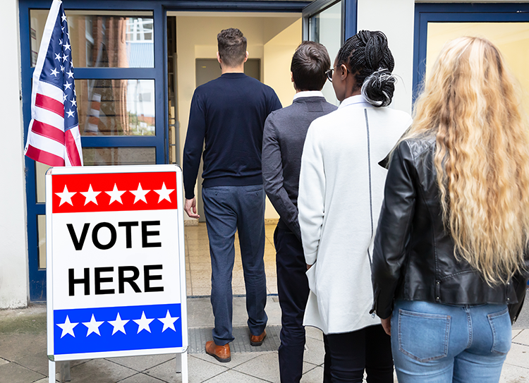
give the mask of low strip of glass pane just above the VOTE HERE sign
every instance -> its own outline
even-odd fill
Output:
[[[153,165],[155,147],[83,147],[85,166]]]

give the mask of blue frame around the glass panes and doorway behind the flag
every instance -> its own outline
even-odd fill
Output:
[[[356,0],[345,0],[355,3]],[[295,12],[302,13],[310,1],[179,1],[179,0],[68,0],[64,8],[75,10],[152,11],[154,19],[154,68],[75,68],[75,79],[138,79],[154,80],[154,137],[83,136],[83,147],[155,147],[157,164],[168,161],[169,121],[167,113],[167,11],[217,12]],[[20,62],[22,75],[22,104],[24,141],[28,137],[31,119],[31,80],[34,68],[30,56],[30,10],[49,9],[51,0],[19,0]],[[347,28],[346,28],[347,29]],[[75,65],[75,63],[74,63]],[[30,301],[46,300],[46,270],[39,269],[37,217],[45,214],[44,203],[37,203],[35,162],[25,158],[26,203],[28,214],[28,265]]]

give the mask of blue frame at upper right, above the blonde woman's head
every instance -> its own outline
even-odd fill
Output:
[[[426,72],[428,23],[521,23],[529,22],[528,3],[415,4],[413,42],[413,101]]]

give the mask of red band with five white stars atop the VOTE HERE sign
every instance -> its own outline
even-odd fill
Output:
[[[53,176],[53,213],[177,209],[174,172]]]

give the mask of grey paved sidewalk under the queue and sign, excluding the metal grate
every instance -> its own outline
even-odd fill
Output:
[[[529,293],[528,293],[529,295]],[[528,296],[529,298],[529,296]],[[234,298],[233,326],[244,327],[244,297]],[[528,305],[529,306],[529,305]],[[529,382],[529,308],[513,329],[513,344],[501,375],[503,383]],[[209,298],[189,298],[189,327],[212,327]],[[279,303],[270,296],[267,302],[269,327],[280,323]],[[523,326],[523,327],[521,327]],[[301,382],[320,383],[323,376],[322,333],[309,328]],[[244,341],[244,340],[243,340]],[[203,353],[188,357],[190,382],[279,382],[277,351],[234,352],[230,363],[218,363]],[[0,311],[0,383],[47,383],[46,308],[35,305],[24,310]],[[59,366],[58,366],[59,367]],[[71,362],[72,383],[177,383],[174,355],[130,358],[75,360]],[[59,368],[58,368],[59,370]],[[59,375],[57,375],[59,379]]]

